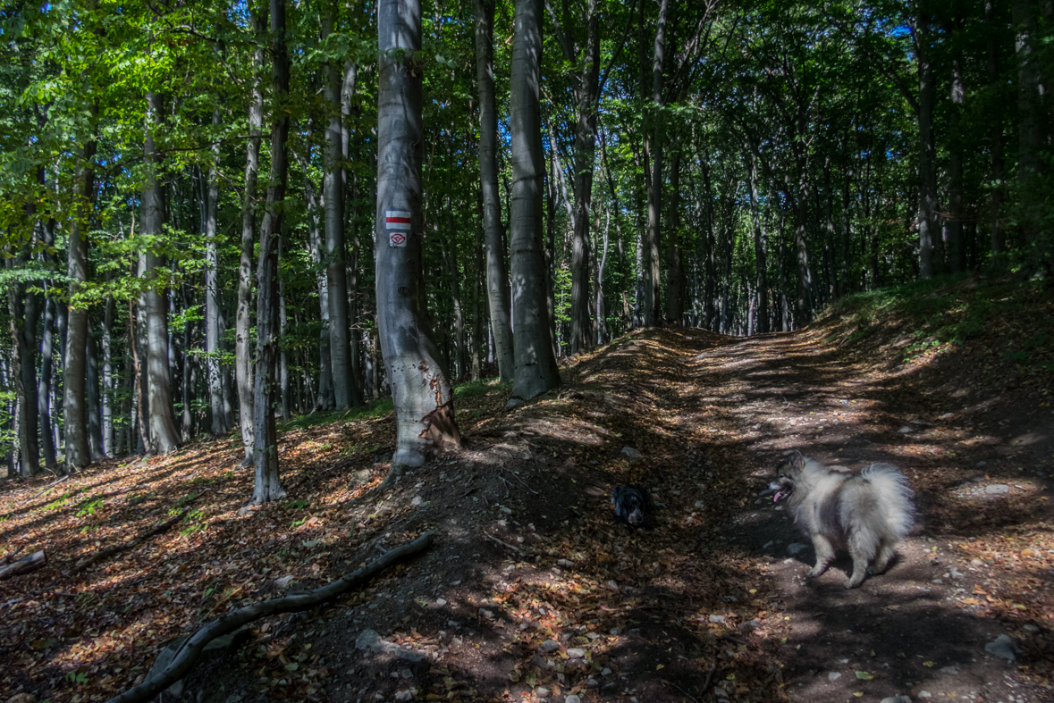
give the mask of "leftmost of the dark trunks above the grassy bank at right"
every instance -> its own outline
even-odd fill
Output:
[[[930,16],[922,9],[919,9],[915,17],[914,28],[919,72],[919,276],[931,278],[935,273],[934,229],[937,209],[937,170],[933,137],[935,86],[930,57]]]

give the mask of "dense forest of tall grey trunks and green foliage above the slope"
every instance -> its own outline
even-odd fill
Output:
[[[0,33],[9,477],[231,437],[266,502],[276,417],[394,390],[413,466],[451,384],[527,400],[627,330],[1054,273],[1049,2],[8,0]]]

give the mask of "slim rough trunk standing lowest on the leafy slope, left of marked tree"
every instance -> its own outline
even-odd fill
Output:
[[[260,227],[256,264],[256,371],[253,398],[253,459],[256,476],[253,503],[286,497],[278,473],[278,428],[274,406],[281,393],[278,378],[278,246],[285,217],[289,174],[289,49],[286,43],[286,0],[271,2],[271,174]]]

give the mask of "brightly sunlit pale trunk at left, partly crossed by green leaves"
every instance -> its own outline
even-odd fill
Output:
[[[150,237],[164,234],[164,196],[157,180],[158,158],[154,146],[154,132],[160,126],[161,96],[147,94],[147,139],[143,144],[147,163],[147,183],[142,192],[142,233]],[[175,408],[172,402],[172,377],[169,373],[169,309],[165,286],[158,282],[167,277],[164,257],[155,250],[147,252],[148,288],[147,303],[147,377],[150,402],[150,439],[158,454],[171,454],[179,448]]]

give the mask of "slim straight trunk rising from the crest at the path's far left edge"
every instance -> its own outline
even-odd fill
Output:
[[[642,7],[644,3],[641,3]],[[644,246],[644,324],[658,326],[660,319],[660,247],[659,214],[662,212],[662,68],[666,51],[666,16],[669,0],[659,0],[659,21],[656,24],[655,53],[651,60],[651,102],[653,116],[653,137],[645,132],[645,169],[647,157],[651,159],[651,175],[648,188],[647,244]],[[643,12],[643,11],[642,11]],[[643,86],[642,86],[643,87]],[[649,141],[650,139],[650,141]]]

